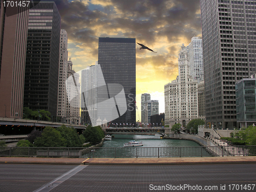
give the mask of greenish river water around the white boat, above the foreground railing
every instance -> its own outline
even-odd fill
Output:
[[[102,147],[123,147],[131,140],[142,141],[143,147],[201,146],[197,142],[180,139],[160,139],[151,135],[114,135],[111,141],[104,141]]]

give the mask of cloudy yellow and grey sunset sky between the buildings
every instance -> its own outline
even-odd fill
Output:
[[[200,0],[54,1],[61,29],[68,33],[68,52],[78,72],[98,60],[99,37],[129,37],[136,44],[136,120],[141,94],[151,94],[164,113],[164,85],[178,75],[178,54],[193,36],[201,36]]]

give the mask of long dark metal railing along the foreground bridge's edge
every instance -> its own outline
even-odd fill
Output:
[[[0,156],[33,157],[207,157],[253,156],[256,146],[191,147],[0,147]]]

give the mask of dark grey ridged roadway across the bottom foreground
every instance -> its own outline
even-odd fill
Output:
[[[209,165],[0,164],[0,170],[1,192],[256,191],[256,164],[251,163]]]

